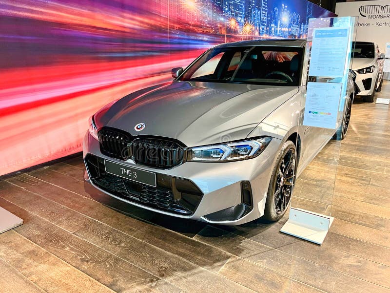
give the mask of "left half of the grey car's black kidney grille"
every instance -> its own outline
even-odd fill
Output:
[[[130,158],[128,144],[131,143],[132,138],[125,133],[112,130],[101,129],[98,132],[100,151],[113,158],[127,160]]]

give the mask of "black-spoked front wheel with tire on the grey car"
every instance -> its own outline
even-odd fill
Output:
[[[280,149],[273,167],[262,219],[276,222],[286,213],[295,184],[297,166],[295,145],[288,140]]]

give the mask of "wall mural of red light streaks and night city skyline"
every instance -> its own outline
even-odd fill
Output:
[[[305,38],[306,0],[2,0],[0,175],[81,150],[90,115],[210,46]]]

